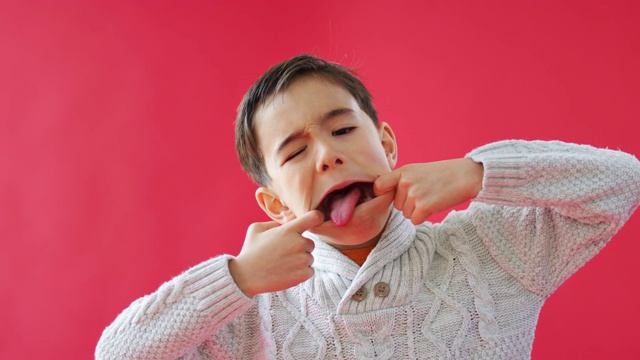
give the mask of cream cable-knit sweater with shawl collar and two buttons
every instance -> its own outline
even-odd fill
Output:
[[[394,211],[362,267],[306,234],[315,276],[252,300],[213,258],[132,303],[96,358],[529,358],[545,299],[640,203],[640,163],[561,142],[468,157],[484,165],[469,208],[417,227]]]

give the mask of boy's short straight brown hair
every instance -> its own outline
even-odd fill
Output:
[[[355,72],[339,64],[322,60],[316,56],[303,54],[285,60],[271,67],[247,91],[236,118],[236,151],[242,169],[260,186],[269,184],[271,178],[264,166],[264,158],[253,131],[253,118],[258,108],[272,94],[277,94],[302,75],[315,74],[343,86],[358,102],[375,125],[378,115],[371,94],[357,78]]]

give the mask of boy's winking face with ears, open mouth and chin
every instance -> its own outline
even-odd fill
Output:
[[[373,181],[396,163],[389,125],[376,128],[346,89],[308,75],[267,99],[254,130],[272,179],[256,199],[272,219],[283,224],[317,209],[326,221],[310,231],[327,243],[377,240],[393,200],[393,192],[373,194]]]

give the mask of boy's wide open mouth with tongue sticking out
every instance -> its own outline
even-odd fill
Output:
[[[327,194],[317,210],[324,214],[325,221],[331,219],[336,226],[342,227],[351,220],[358,205],[375,197],[373,183],[356,182]]]

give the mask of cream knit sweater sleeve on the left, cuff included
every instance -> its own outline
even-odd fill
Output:
[[[229,273],[231,256],[201,263],[134,301],[109,325],[96,359],[176,359],[253,304]]]

